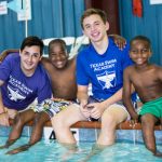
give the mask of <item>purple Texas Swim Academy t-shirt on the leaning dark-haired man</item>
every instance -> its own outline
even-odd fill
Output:
[[[36,98],[38,103],[51,98],[52,90],[49,76],[41,64],[31,77],[25,76],[21,68],[21,57],[14,53],[0,65],[0,80],[3,105],[11,109],[23,110]]]

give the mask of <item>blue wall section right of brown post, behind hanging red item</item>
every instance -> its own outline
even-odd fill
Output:
[[[132,0],[119,0],[121,35],[129,41],[137,36],[147,36],[152,43],[151,62],[162,65],[162,4],[151,5],[143,0],[143,17],[132,13]]]

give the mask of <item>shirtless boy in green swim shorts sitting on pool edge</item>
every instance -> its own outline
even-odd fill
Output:
[[[162,157],[162,152],[157,150],[154,137],[154,125],[162,123],[162,67],[149,63],[151,43],[144,36],[137,36],[131,41],[130,56],[135,65],[124,71],[123,100],[133,120],[137,121],[140,117],[147,149]],[[131,102],[131,84],[144,104],[139,114]]]

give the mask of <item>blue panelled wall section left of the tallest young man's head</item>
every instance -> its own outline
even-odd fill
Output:
[[[42,39],[81,36],[83,11],[83,0],[31,0],[32,19],[28,21],[28,36]],[[5,49],[19,49],[24,38],[25,22],[18,22],[16,12],[8,9],[6,15],[0,15],[0,53]]]

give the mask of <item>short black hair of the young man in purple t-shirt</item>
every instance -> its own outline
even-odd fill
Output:
[[[44,44],[43,44],[43,41],[36,36],[29,36],[29,37],[25,38],[21,45],[21,51],[23,51],[26,46],[33,46],[33,45],[37,45],[40,48],[40,55],[42,55]]]

